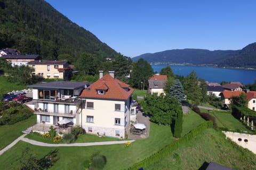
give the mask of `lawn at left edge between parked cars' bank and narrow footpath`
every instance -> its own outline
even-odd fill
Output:
[[[13,125],[0,126],[0,150],[22,135],[22,131],[36,123],[36,115]]]

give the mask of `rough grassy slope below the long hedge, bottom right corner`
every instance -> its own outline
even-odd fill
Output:
[[[234,169],[256,169],[256,156],[251,151],[235,145],[214,129],[207,129],[161,162],[145,169],[198,169],[204,162]]]

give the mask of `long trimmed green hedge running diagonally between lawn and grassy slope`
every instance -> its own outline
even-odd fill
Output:
[[[198,134],[202,133],[205,129],[212,128],[212,122],[207,121],[202,123],[201,125],[197,126],[194,130],[190,131],[184,137],[180,138],[177,141],[172,142],[171,144],[165,146],[163,149],[159,150],[155,154],[147,157],[141,162],[135,163],[128,169],[139,169],[141,167],[146,167],[152,163],[158,162],[159,160],[163,159],[165,156],[169,155],[174,150],[178,149],[182,145],[186,144],[191,139],[195,138]]]

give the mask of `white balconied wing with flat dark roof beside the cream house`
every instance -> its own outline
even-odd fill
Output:
[[[37,114],[37,123],[57,125],[67,119],[73,125],[81,124],[83,100],[78,98],[88,82],[53,81],[33,84],[33,101],[26,105]]]

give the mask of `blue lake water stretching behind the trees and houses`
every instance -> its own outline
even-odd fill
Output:
[[[166,64],[151,65],[153,70],[159,73],[161,69],[165,68]],[[222,81],[239,81],[244,85],[254,83],[256,80],[256,70],[242,70],[242,69],[223,69],[218,67],[206,66],[190,66],[190,65],[170,65],[174,74],[187,76],[191,71],[195,71],[197,78],[202,78],[209,82]]]

